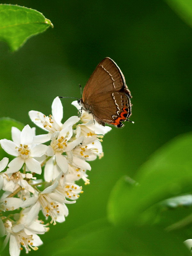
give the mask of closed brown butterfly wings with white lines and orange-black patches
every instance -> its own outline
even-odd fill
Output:
[[[82,103],[99,124],[121,127],[131,115],[131,93],[120,68],[110,58],[103,59],[84,87]]]

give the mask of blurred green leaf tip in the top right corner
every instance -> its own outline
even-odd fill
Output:
[[[192,2],[191,0],[165,0],[165,2],[192,27]]]

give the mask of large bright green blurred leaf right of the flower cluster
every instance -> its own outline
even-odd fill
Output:
[[[192,134],[184,134],[157,150],[143,164],[135,178],[138,186],[131,189],[121,179],[111,192],[108,218],[125,225],[138,221],[151,205],[181,194],[187,184],[192,186]]]

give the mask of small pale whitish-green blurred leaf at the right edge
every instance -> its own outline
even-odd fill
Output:
[[[165,206],[168,208],[176,208],[180,206],[190,206],[192,205],[192,195],[175,196],[163,200],[159,203],[160,206]]]

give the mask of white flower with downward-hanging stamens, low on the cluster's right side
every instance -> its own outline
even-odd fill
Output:
[[[53,223],[53,225],[56,224],[56,221],[65,221],[65,216],[68,215],[68,208],[65,204],[72,204],[76,201],[67,201],[65,195],[55,193],[54,190],[58,184],[59,182],[55,180],[51,186],[45,188],[38,196],[30,197],[21,204],[21,207],[31,206],[26,218],[28,223],[36,219],[40,210],[42,210],[46,219],[48,216],[51,217],[50,223]]]

